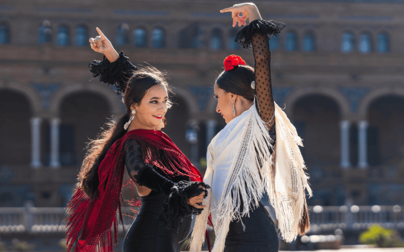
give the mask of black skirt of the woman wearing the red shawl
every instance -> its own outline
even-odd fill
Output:
[[[126,233],[124,252],[180,252],[188,235],[192,217],[186,218],[176,231],[164,228],[158,217],[166,195],[152,191],[141,197],[142,205],[135,221]]]

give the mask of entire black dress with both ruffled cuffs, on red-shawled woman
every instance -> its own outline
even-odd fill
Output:
[[[123,52],[119,53],[119,58],[113,63],[105,56],[103,61],[94,60],[89,64],[89,69],[94,78],[98,77],[99,81],[114,85],[118,94],[124,91],[122,87],[137,70]],[[129,176],[152,191],[141,197],[141,208],[125,235],[123,251],[180,252],[191,228],[192,214],[200,214],[202,210],[188,205],[184,199],[199,195],[202,192],[198,188],[199,184],[207,188],[209,186],[201,182],[190,182],[187,176],[176,175],[169,178],[162,170],[144,163],[142,148],[136,140],[127,140],[124,148],[125,166]],[[171,199],[169,202],[174,203],[167,204],[168,198]],[[171,218],[171,221],[175,219],[175,222],[167,223],[167,218]]]

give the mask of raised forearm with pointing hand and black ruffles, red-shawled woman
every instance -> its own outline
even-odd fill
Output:
[[[99,36],[90,38],[91,49],[96,52],[103,53],[104,58],[102,61],[94,60],[88,68],[93,77],[98,77],[100,82],[107,83],[108,85],[115,85],[117,93],[120,94],[124,90],[125,83],[133,76],[133,72],[137,67],[132,65],[129,58],[121,51],[118,53],[108,38],[101,30],[97,28]]]

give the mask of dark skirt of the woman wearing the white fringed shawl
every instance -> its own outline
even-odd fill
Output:
[[[242,222],[242,224],[241,224]],[[243,224],[245,229],[243,229]],[[273,252],[279,250],[278,233],[267,209],[260,202],[249,217],[232,221],[224,252]]]

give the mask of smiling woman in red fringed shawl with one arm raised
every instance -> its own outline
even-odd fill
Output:
[[[91,141],[79,174],[80,183],[67,206],[68,251],[112,252],[117,244],[125,167],[141,196],[141,208],[127,232],[124,251],[180,252],[190,231],[191,214],[200,214],[208,185],[200,172],[161,132],[170,107],[168,86],[154,68],[138,69],[117,53],[97,28],[90,39],[104,60],[90,72],[123,94],[127,112]],[[167,229],[168,228],[168,229]]]

